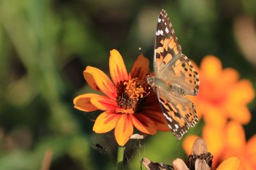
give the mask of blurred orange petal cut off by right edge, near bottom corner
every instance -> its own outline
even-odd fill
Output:
[[[249,162],[251,162],[253,166],[256,167],[256,135],[249,139],[249,141],[246,144],[245,151],[246,158],[248,158]]]

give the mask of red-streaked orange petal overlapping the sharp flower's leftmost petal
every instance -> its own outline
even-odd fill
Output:
[[[99,110],[115,110],[118,107],[116,101],[109,99],[107,96],[92,97],[91,103]]]

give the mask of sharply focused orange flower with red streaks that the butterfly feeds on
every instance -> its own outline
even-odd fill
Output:
[[[122,56],[117,50],[110,51],[109,72],[113,82],[100,69],[87,66],[84,78],[101,94],[82,94],[74,99],[74,108],[81,111],[104,111],[93,125],[96,133],[115,128],[115,138],[124,146],[133,133],[133,127],[145,134],[170,131],[161,113],[156,95],[144,79],[149,61],[140,55],[128,74]]]

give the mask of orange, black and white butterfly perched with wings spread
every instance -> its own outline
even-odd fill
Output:
[[[196,96],[199,75],[184,53],[166,11],[157,20],[154,75],[147,83],[155,90],[163,115],[174,136],[181,139],[198,122],[195,106],[186,95]]]

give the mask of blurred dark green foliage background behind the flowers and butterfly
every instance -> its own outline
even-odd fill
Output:
[[[0,169],[115,168],[113,133],[93,134],[99,112],[75,110],[72,100],[93,92],[83,78],[86,66],[108,73],[113,48],[128,70],[139,47],[152,67],[162,8],[186,55],[197,64],[216,55],[255,88],[255,6],[254,0],[0,0]],[[255,134],[255,100],[250,110],[246,138]],[[202,122],[189,133],[201,129]],[[139,169],[143,157],[166,164],[184,157],[181,142],[166,132],[126,148],[126,169]]]

